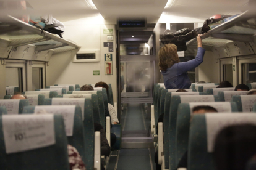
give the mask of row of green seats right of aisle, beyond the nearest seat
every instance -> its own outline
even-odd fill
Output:
[[[195,89],[187,89],[190,92],[172,92],[177,89],[164,89],[163,84],[156,86],[154,105],[151,106],[151,134],[158,150],[158,164],[162,165],[162,169],[176,169],[181,156],[187,150],[193,107],[210,105],[218,112],[250,113],[253,110],[253,104],[256,103],[255,95],[243,95],[244,91],[234,91],[234,88],[233,91],[231,89],[225,91],[227,88],[218,89],[217,93],[211,88],[207,89],[207,93],[196,92]],[[158,92],[156,92],[157,89]],[[163,123],[157,124],[160,115],[163,116]],[[184,120],[187,121],[186,124]]]

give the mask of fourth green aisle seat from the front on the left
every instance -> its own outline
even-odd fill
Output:
[[[67,94],[73,95],[84,95],[84,94],[96,94],[98,97],[98,109],[100,112],[100,124],[106,129],[106,118],[105,118],[105,105],[103,100],[103,92],[102,91],[69,91]],[[61,97],[61,95],[59,95]],[[63,97],[63,95],[62,95]]]

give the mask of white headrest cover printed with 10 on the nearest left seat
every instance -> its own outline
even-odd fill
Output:
[[[3,115],[2,129],[7,154],[56,143],[53,115]]]

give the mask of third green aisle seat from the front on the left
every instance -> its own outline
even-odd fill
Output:
[[[58,100],[56,100],[58,99]],[[58,105],[77,105],[77,102],[61,102],[60,98],[53,98],[53,99],[45,99],[45,105],[52,105],[53,100],[56,100],[60,103]],[[65,100],[65,99],[64,99]],[[69,101],[74,99],[70,98]],[[80,100],[80,99],[76,99]],[[80,105],[82,110],[82,117],[83,117],[83,127],[86,134],[85,145],[85,166],[86,169],[93,170],[93,155],[94,155],[94,121],[93,121],[93,107],[92,107],[92,99],[83,99],[85,102]],[[67,100],[66,100],[67,101]]]

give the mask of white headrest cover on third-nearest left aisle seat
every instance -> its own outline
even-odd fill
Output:
[[[82,118],[84,119],[85,99],[84,98],[53,98],[51,105],[78,105],[82,110]]]

